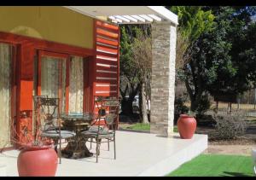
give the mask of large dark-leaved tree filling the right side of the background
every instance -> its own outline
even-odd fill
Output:
[[[238,95],[255,82],[255,29],[250,24],[253,9],[207,7],[211,8],[216,17],[214,28],[195,41],[191,60],[183,68],[190,108],[198,113],[203,111],[201,105],[207,105],[208,92],[212,96]]]

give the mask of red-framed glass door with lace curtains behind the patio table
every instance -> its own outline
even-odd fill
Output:
[[[82,56],[39,51],[38,95],[60,98],[61,113],[84,113],[84,101],[89,101],[84,93],[88,86],[86,62]]]

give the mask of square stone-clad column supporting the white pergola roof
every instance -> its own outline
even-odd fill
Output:
[[[152,24],[152,79],[150,132],[173,133],[177,27],[172,23]]]

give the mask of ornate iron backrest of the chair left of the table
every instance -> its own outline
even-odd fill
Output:
[[[40,131],[52,131],[60,128],[59,98],[49,98],[47,96],[33,96],[35,105],[35,115]]]

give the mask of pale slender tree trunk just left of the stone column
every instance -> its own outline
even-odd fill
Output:
[[[147,98],[145,92],[145,84],[142,83],[140,90],[140,113],[141,113],[141,121],[143,124],[148,124],[148,113],[147,113]]]

